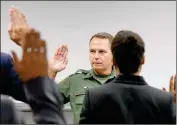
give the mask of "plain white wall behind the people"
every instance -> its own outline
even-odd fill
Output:
[[[97,32],[115,35],[121,29],[133,30],[146,44],[146,64],[142,75],[152,86],[168,87],[176,72],[176,1],[1,1],[1,51],[21,50],[8,37],[8,9],[18,6],[31,26],[47,40],[48,57],[61,44],[69,47],[69,63],[56,80],[79,68],[89,69],[88,41]]]

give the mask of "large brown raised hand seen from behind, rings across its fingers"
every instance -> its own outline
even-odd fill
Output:
[[[39,76],[48,76],[48,62],[46,56],[46,43],[41,40],[40,33],[31,29],[22,36],[22,59],[19,60],[12,52],[13,64],[16,72],[23,81]]]

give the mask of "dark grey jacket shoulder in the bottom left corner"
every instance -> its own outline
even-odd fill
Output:
[[[0,98],[0,124],[22,124],[24,123],[21,119],[20,112],[16,109],[15,104],[9,98],[9,96],[1,95]]]

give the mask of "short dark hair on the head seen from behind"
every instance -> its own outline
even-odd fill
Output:
[[[112,41],[111,51],[120,73],[132,74],[139,69],[145,52],[145,44],[137,33],[121,30]]]

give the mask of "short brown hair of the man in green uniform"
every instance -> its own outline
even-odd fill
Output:
[[[110,33],[107,33],[107,32],[96,33],[91,37],[90,41],[95,37],[102,38],[102,39],[108,39],[110,44],[112,44],[113,36]]]

